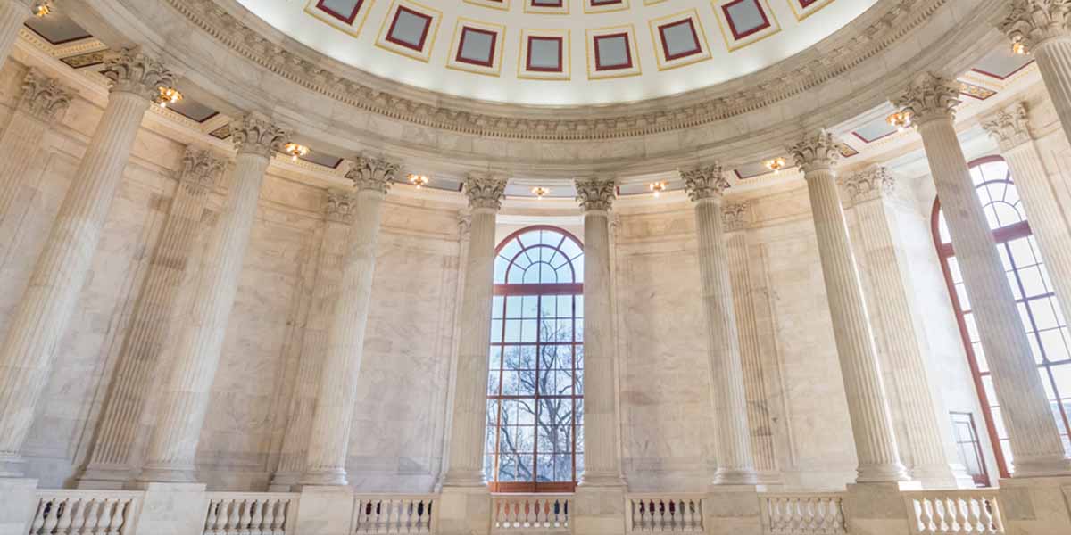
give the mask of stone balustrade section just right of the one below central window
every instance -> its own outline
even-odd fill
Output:
[[[704,494],[629,494],[628,533],[704,533]]]

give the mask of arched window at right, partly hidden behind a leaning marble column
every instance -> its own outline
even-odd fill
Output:
[[[1030,339],[1030,349],[1038,363],[1038,372],[1064,440],[1064,448],[1071,454],[1071,441],[1068,440],[1071,434],[1071,335],[1067,320],[1053,293],[1052,280],[1026,220],[1008,164],[999,156],[977,159],[970,163],[970,178],[1015,295],[1019,315]],[[934,202],[933,232],[990,438],[994,444],[1000,445],[995,452],[1000,475],[1008,477],[1013,461],[1008,432],[939,200]]]

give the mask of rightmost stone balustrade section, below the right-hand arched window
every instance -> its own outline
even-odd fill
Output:
[[[997,489],[904,492],[911,533],[1005,533],[997,493]]]

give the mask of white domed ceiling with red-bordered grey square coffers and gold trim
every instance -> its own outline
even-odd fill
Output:
[[[238,0],[321,54],[454,96],[598,105],[714,86],[877,0]]]

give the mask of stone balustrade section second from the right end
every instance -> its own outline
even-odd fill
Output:
[[[759,496],[765,535],[847,533],[841,492],[779,492]]]

